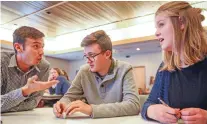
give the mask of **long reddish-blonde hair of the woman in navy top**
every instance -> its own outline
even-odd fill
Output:
[[[157,10],[155,16],[163,13],[170,17],[174,32],[172,51],[164,51],[161,70],[181,69],[181,63],[190,66],[207,55],[207,37],[201,25],[205,17],[201,11],[182,1],[166,3]],[[181,24],[184,25],[183,30]]]

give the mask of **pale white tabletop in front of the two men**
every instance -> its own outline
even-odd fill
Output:
[[[71,118],[61,119],[54,116],[52,108],[3,113],[1,117],[3,124],[157,124],[143,120],[141,115],[92,119],[84,114],[75,113]]]

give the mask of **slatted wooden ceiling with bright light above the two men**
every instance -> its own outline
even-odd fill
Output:
[[[11,28],[9,25],[31,25],[44,31],[47,37],[55,37],[153,14],[162,3],[164,2],[2,1],[1,26]]]

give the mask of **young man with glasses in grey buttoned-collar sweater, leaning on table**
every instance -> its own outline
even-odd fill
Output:
[[[84,47],[83,65],[70,89],[53,109],[63,113],[85,113],[92,118],[137,115],[140,111],[138,91],[132,66],[112,58],[112,43],[108,35],[96,31],[81,42]]]

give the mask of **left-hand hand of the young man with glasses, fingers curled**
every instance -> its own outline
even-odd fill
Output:
[[[63,117],[63,110],[66,109],[66,104],[62,102],[57,102],[53,105],[53,113],[55,114],[56,117],[60,118]]]

